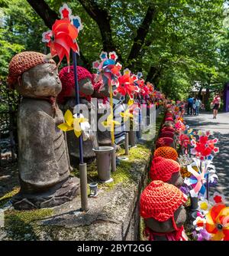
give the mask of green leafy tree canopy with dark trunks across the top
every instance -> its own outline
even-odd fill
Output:
[[[66,1],[84,25],[80,64],[92,71],[103,51],[116,51],[131,71],[142,71],[172,98],[199,81],[222,87],[228,79],[228,22],[224,0]],[[47,53],[41,34],[59,18],[62,0],[0,0],[0,77],[19,51]]]

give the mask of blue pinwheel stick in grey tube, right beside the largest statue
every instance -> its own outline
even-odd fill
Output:
[[[73,51],[73,70],[75,79],[76,90],[76,105],[79,105],[79,84],[77,78],[77,60],[76,52]],[[78,113],[79,115],[79,113]],[[82,150],[82,135],[79,136],[79,178],[80,178],[80,193],[81,193],[81,210],[88,211],[88,195],[87,195],[87,167],[83,162],[83,150]]]

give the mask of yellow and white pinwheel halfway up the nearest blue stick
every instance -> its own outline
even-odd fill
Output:
[[[68,132],[69,130],[74,130],[74,133],[77,137],[79,137],[82,133],[82,128],[80,126],[80,123],[88,122],[82,114],[80,114],[80,117],[74,117],[73,113],[70,110],[66,110],[66,113],[64,114],[64,120],[66,123],[61,123],[59,126],[57,126],[60,130],[63,130],[64,132]]]

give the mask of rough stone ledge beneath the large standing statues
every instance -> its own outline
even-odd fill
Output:
[[[160,130],[162,119],[161,116],[157,120],[157,132]],[[46,218],[30,222],[33,232],[31,237],[24,234],[24,231],[17,235],[11,234],[10,227],[6,225],[2,233],[0,230],[0,238],[2,236],[2,240],[60,241],[139,240],[138,202],[140,193],[147,184],[154,139],[150,143],[144,143],[144,158],[131,162],[129,179],[114,184],[114,187],[101,187],[97,198],[89,198],[89,212],[79,211],[81,205],[78,196],[71,202],[52,208],[53,213]],[[138,146],[143,147],[140,144]]]

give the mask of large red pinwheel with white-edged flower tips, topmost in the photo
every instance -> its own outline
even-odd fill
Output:
[[[76,42],[79,31],[82,29],[81,20],[78,16],[71,15],[71,9],[64,4],[60,8],[61,19],[56,20],[51,31],[42,34],[42,41],[50,48],[51,57],[58,55],[60,65],[63,57],[66,56],[69,65],[69,54],[72,49],[79,53],[79,46]]]

